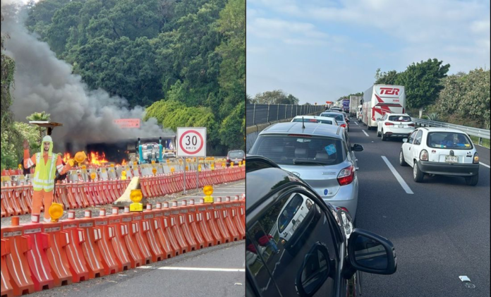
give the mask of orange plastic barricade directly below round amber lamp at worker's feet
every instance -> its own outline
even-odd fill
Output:
[[[54,280],[54,286],[65,286],[72,283],[72,274],[70,265],[66,257],[66,245],[70,242],[68,233],[61,231],[61,222],[51,222],[42,224],[42,233],[47,235],[49,248],[47,248],[47,257],[49,267],[51,267],[51,276]]]

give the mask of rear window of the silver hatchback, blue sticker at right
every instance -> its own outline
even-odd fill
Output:
[[[310,135],[259,135],[250,154],[258,154],[283,165],[332,165],[344,160],[339,138]]]

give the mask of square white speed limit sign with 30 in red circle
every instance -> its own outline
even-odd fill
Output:
[[[206,157],[206,128],[177,128],[177,157]]]

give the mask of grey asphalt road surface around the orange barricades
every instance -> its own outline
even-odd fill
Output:
[[[237,181],[215,187],[213,196],[225,198],[243,193],[245,181]],[[202,195],[191,194],[177,199],[199,197]],[[32,293],[30,296],[241,297],[245,296],[245,244],[244,241],[236,241],[204,248],[106,277]]]

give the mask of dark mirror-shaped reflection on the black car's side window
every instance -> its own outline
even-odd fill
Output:
[[[324,243],[317,241],[303,257],[301,269],[296,274],[295,286],[298,295],[313,296],[333,272],[334,260],[329,257],[329,250]]]

